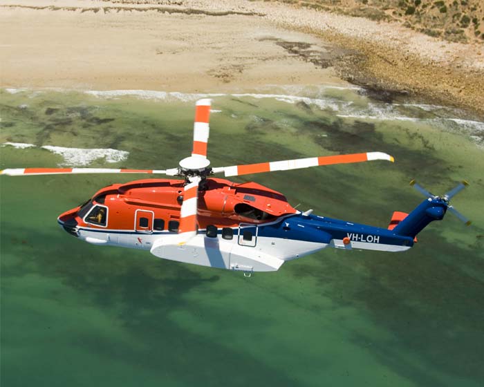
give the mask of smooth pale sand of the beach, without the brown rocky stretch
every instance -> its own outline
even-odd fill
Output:
[[[2,86],[216,92],[342,83],[333,68],[301,61],[284,48],[302,41],[321,57],[333,57],[321,39],[251,12],[205,15],[180,7],[176,13],[147,7],[97,12],[84,7],[105,2],[62,4],[75,8],[0,8]]]

